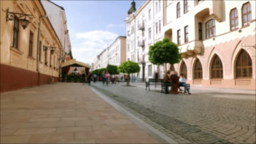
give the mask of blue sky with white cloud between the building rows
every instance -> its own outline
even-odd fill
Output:
[[[132,0],[52,0],[65,9],[73,58],[91,64],[118,36]],[[144,0],[135,0],[136,8]]]

